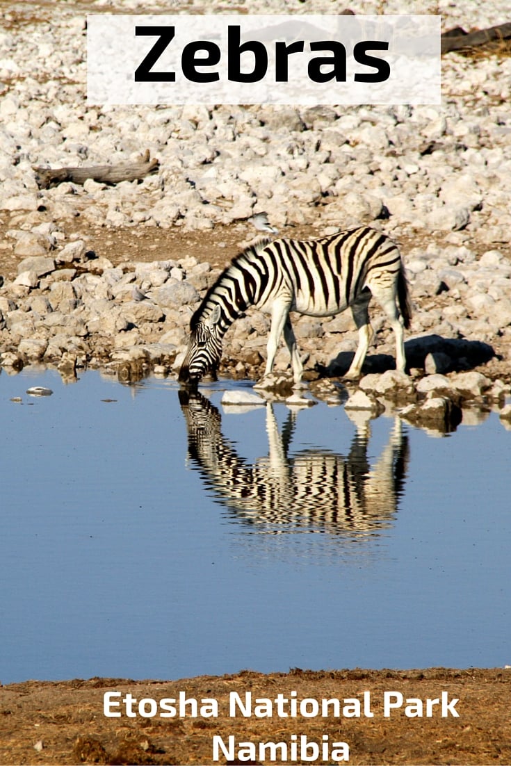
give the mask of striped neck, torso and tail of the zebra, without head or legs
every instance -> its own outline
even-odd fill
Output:
[[[385,273],[396,283],[405,326],[411,310],[401,254],[381,231],[357,227],[313,240],[261,239],[232,260],[192,316],[190,329],[220,306],[220,331],[249,306],[264,309],[289,293],[291,310],[331,316],[357,299],[370,281]]]

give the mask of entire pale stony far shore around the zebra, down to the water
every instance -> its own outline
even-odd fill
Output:
[[[295,5],[296,12],[332,12],[321,0]],[[381,11],[378,5],[353,2],[350,8]],[[467,0],[386,5],[385,12],[440,12],[444,29],[507,20],[500,0],[486,3],[477,18]],[[122,7],[149,10],[136,2]],[[270,211],[271,224],[286,237],[364,223],[401,245],[414,306],[407,342],[411,376],[391,371],[393,339],[373,307],[376,348],[366,363],[369,375],[349,391],[352,406],[378,411],[378,398],[393,398],[410,405],[412,420],[436,417],[450,424],[470,401],[509,417],[508,52],[496,47],[445,55],[442,106],[101,109],[84,98],[84,22],[87,11],[112,8],[116,2],[33,3],[30,11],[13,3],[4,15],[2,365],[17,370],[42,361],[58,365],[63,375],[110,366],[124,380],[151,370],[175,375],[190,313],[220,273],[218,261],[208,262],[208,243],[235,231],[241,248],[256,234],[247,220]],[[230,5],[219,9],[227,12]],[[182,8],[165,4],[165,10]],[[201,10],[199,4],[186,7]],[[250,10],[290,7],[275,0]],[[34,172],[34,165],[133,161],[146,150],[159,159],[159,172],[142,182],[41,188]],[[162,231],[182,234],[182,241],[174,238],[153,262],[138,258],[136,248],[129,259],[107,257],[97,245],[92,250],[94,238],[115,241],[126,231],[135,241],[141,233],[150,241]],[[203,255],[188,253],[190,235],[204,243]],[[296,319],[311,390],[346,400],[336,378],[346,372],[356,346],[349,312],[323,322]],[[254,311],[235,322],[224,342],[221,373],[258,378],[268,327],[267,315]],[[282,350],[277,370],[286,366]]]

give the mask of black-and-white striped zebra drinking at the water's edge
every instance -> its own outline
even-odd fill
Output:
[[[206,372],[216,372],[225,332],[250,306],[271,313],[264,378],[273,370],[283,332],[296,386],[303,364],[290,311],[334,316],[350,306],[359,346],[345,377],[357,379],[374,336],[368,313],[371,296],[394,330],[396,367],[405,371],[403,327],[410,326],[411,308],[401,254],[389,237],[362,226],[307,241],[264,238],[231,261],[193,314],[179,381],[195,386]]]

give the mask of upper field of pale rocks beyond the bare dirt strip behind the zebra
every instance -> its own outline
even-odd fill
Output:
[[[167,3],[153,5],[169,11]],[[351,5],[359,13],[379,8]],[[495,24],[508,11],[503,0],[486,2],[478,18],[469,0],[395,0],[385,12],[394,6],[399,13],[439,11],[444,28],[460,20]],[[215,8],[186,8],[205,10]],[[296,8],[283,0],[251,4],[251,12],[262,10],[332,12],[327,0],[296,0]],[[0,214],[24,234],[48,215],[59,224],[80,216],[84,231],[98,224],[207,231],[271,210],[279,228],[383,219],[396,237],[454,232],[453,244],[475,243],[476,250],[508,242],[510,57],[480,57],[475,66],[445,55],[442,106],[100,107],[84,98],[85,17],[72,3],[41,5],[38,13],[13,4],[0,42]],[[34,172],[34,165],[123,163],[145,150],[160,171],[139,185],[89,180],[40,188]]]

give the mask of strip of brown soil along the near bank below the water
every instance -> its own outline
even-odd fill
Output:
[[[126,715],[125,705],[112,710],[121,717],[103,715],[103,694],[126,693],[134,699],[179,698],[218,701],[218,717],[192,717],[190,707],[183,718],[152,718]],[[252,692],[257,698],[274,700],[278,694],[296,699],[360,699],[370,694],[372,718],[258,718],[255,707],[251,717],[239,710],[229,717],[229,695],[237,692],[245,699]],[[401,709],[384,717],[384,692],[401,692]],[[408,717],[420,699],[426,712],[426,700],[441,698],[447,692],[459,717],[442,717],[441,706],[434,705],[431,717]],[[90,679],[65,682],[10,684],[0,688],[0,762],[2,764],[211,764],[213,737],[228,743],[285,741],[291,735],[306,735],[309,741],[323,742],[328,735],[333,742],[349,745],[350,764],[509,764],[511,763],[511,670],[339,670],[332,672],[291,670],[288,674],[263,675],[243,671],[235,676],[200,676],[173,682],[121,679]],[[149,705],[149,702],[145,703]],[[346,703],[348,704],[348,703]],[[149,711],[150,707],[146,707]],[[289,710],[289,707],[284,708]],[[178,711],[179,712],[179,711]],[[321,751],[319,751],[321,753]],[[258,751],[257,751],[258,753]],[[220,751],[218,763],[260,763],[258,756],[242,759],[243,753],[227,758]],[[265,761],[270,762],[270,761]],[[291,762],[291,761],[289,761]],[[305,762],[305,761],[294,761]],[[334,763],[333,758],[315,763]],[[342,761],[341,761],[342,762]]]

